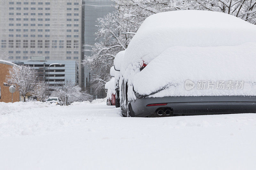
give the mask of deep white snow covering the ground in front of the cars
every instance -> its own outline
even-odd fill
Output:
[[[0,103],[0,169],[255,169],[256,114],[126,118],[106,102]]]

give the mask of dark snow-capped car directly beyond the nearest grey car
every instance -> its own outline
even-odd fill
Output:
[[[117,54],[116,54],[116,57],[114,59],[114,69],[115,69],[115,81],[116,81],[116,84],[115,84],[115,89],[116,89],[116,107],[120,107],[120,97],[119,97],[119,78],[120,78],[120,69],[121,69],[121,63],[124,59],[124,53],[125,53],[125,50],[124,51],[119,51]]]

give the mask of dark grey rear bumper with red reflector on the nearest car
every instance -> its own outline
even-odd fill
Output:
[[[148,104],[167,103],[165,106]],[[180,96],[141,98],[130,104],[131,116],[146,117],[157,109],[172,108],[175,114],[256,113],[256,96]],[[164,116],[164,115],[163,115]]]

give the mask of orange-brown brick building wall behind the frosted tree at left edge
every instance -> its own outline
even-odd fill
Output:
[[[0,102],[13,102],[20,101],[20,93],[17,91],[13,94],[9,92],[9,87],[4,86],[4,83],[6,83],[5,77],[9,73],[9,68],[11,68],[12,65],[2,64],[0,63],[0,86],[1,86],[1,99]]]

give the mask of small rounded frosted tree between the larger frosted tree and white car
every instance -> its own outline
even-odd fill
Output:
[[[43,81],[39,81],[36,83],[36,87],[32,94],[33,96],[36,96],[39,101],[43,102],[47,98],[48,86]]]

